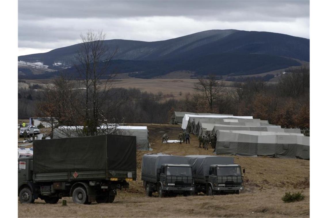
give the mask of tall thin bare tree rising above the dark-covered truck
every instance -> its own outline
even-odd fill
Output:
[[[104,105],[109,98],[114,74],[109,72],[111,60],[117,49],[110,52],[104,44],[105,34],[102,31],[89,30],[81,34],[82,43],[77,53],[75,68],[79,74],[78,90],[80,97],[78,107],[74,107],[78,117],[83,121],[83,135],[98,135],[101,124],[106,123]],[[107,127],[107,126],[106,126]]]

